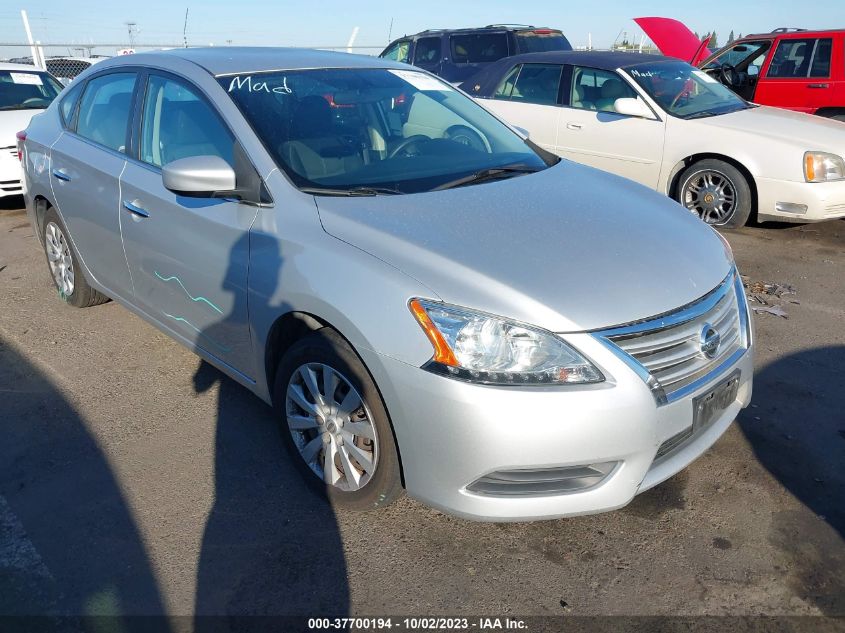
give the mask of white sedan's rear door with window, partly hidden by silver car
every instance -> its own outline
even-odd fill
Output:
[[[557,153],[561,64],[517,64],[505,73],[485,107],[529,132],[540,147]]]

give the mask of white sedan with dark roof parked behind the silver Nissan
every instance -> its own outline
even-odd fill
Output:
[[[532,53],[461,87],[541,147],[663,192],[709,224],[845,217],[845,124],[748,103],[685,62]]]

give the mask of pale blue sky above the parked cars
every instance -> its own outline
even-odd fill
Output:
[[[354,27],[359,45],[382,47],[392,37],[426,28],[521,23],[560,28],[573,45],[585,45],[588,34],[595,47],[608,47],[626,31],[639,41],[632,18],[657,15],[681,20],[699,33],[715,30],[720,43],[728,33],[769,31],[776,27],[845,28],[845,2],[816,0],[603,0],[566,2],[513,0],[457,2],[356,2],[323,0],[4,0],[0,7],[0,44],[25,42],[20,10],[26,9],[35,39],[42,43],[79,42],[128,45],[126,22],[136,22],[137,44],[182,43],[185,9],[189,9],[187,39],[192,46],[235,45],[343,47]],[[66,51],[47,51],[67,54]],[[95,52],[114,53],[110,50]],[[0,47],[0,56],[28,55],[28,49]]]

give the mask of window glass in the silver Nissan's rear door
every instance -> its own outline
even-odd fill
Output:
[[[76,133],[125,152],[136,79],[135,73],[111,73],[90,80],[79,104]]]

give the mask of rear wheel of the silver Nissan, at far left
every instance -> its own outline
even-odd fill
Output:
[[[79,256],[68,239],[67,228],[53,208],[48,208],[44,214],[41,237],[47,257],[47,270],[62,301],[75,308],[87,308],[109,300],[106,295],[88,285],[79,265]]]

